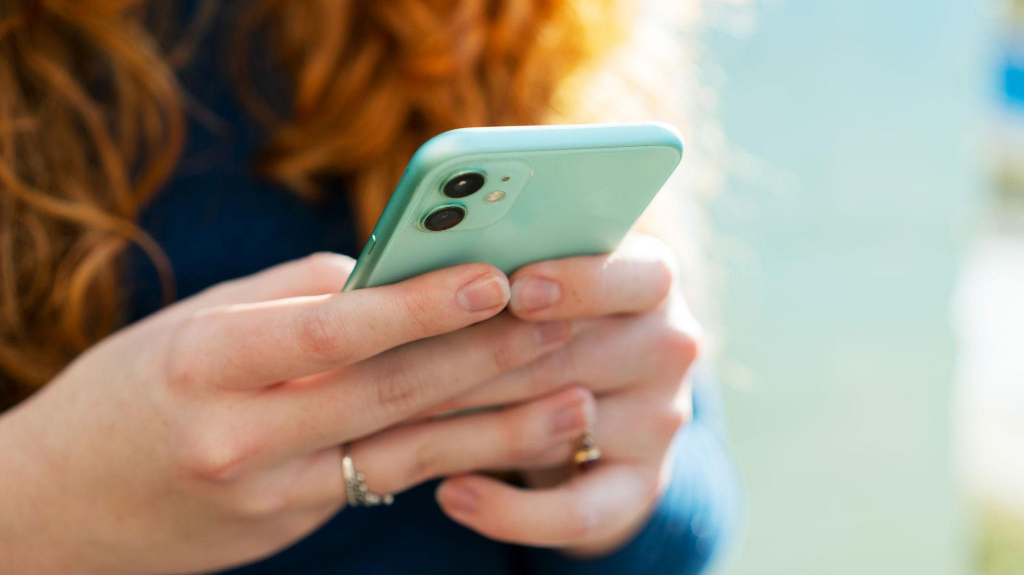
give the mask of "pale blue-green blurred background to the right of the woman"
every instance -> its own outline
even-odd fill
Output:
[[[711,4],[721,571],[1024,574],[1024,1]]]

